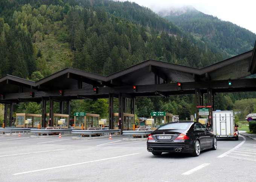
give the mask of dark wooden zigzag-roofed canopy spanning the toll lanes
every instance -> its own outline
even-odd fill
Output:
[[[37,82],[6,75],[0,78],[0,103],[12,108],[18,102],[42,102],[44,121],[46,100],[50,101],[50,109],[53,109],[53,101],[60,102],[62,112],[63,102],[67,102],[66,114],[69,114],[72,99],[109,98],[111,120],[113,97],[119,98],[119,118],[123,118],[126,109],[124,98],[132,100],[131,114],[134,114],[134,98],[138,96],[196,94],[197,104],[202,105],[202,94],[207,93],[208,103],[213,105],[213,93],[256,91],[256,79],[248,77],[255,73],[256,46],[251,51],[204,68],[149,59],[108,76],[74,68],[58,71]],[[228,84],[230,79],[232,85]],[[177,85],[177,82],[181,84]],[[113,127],[111,123],[110,127]]]

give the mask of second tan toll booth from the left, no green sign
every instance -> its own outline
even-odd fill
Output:
[[[65,120],[64,120],[65,119]],[[53,126],[60,127],[58,121],[62,120],[61,128],[66,129],[69,128],[69,115],[68,114],[53,114]],[[50,114],[46,114],[46,127],[49,126],[50,123]]]

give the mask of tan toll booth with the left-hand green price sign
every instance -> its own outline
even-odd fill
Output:
[[[84,124],[85,130],[88,129],[89,127],[99,127],[99,114],[75,112],[74,122],[75,129],[81,129],[82,124]]]

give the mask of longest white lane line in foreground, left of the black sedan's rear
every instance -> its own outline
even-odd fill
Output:
[[[46,170],[50,170],[50,169],[63,168],[63,167],[69,167],[69,166],[74,166],[74,165],[81,165],[81,164],[87,164],[87,163],[92,163],[92,162],[106,161],[106,160],[110,160],[110,159],[122,158],[122,157],[126,157],[126,156],[137,155],[137,154],[140,154],[140,153],[132,153],[132,154],[128,154],[128,155],[121,155],[121,156],[110,157],[110,158],[105,158],[105,159],[98,159],[98,160],[94,160],[94,161],[87,161],[87,162],[80,162],[80,163],[76,163],[76,164],[61,165],[61,166],[56,166],[56,167],[49,167],[49,168],[44,168],[44,169],[26,171],[26,172],[22,172],[22,173],[15,173],[15,174],[12,174],[12,175],[34,173],[34,172],[38,172],[38,171],[46,171]]]

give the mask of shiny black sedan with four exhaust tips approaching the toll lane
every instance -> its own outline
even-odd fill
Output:
[[[178,121],[164,124],[154,130],[148,136],[147,149],[153,155],[169,152],[199,156],[202,150],[216,150],[217,139],[203,124]]]

